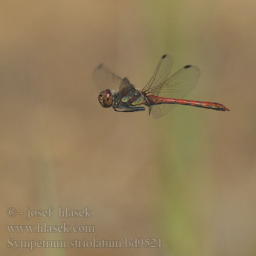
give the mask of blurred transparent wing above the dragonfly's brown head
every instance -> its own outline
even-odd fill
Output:
[[[95,86],[101,91],[104,89],[119,91],[122,87],[129,84],[127,78],[122,79],[103,63],[100,63],[93,71],[93,81]]]

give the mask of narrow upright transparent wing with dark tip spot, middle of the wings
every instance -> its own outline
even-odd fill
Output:
[[[156,86],[156,84],[160,84],[164,82],[170,73],[170,70],[172,69],[173,66],[173,59],[167,54],[164,54],[156,67],[156,70],[151,77],[151,79],[148,81],[146,86],[142,89],[143,92],[147,93],[147,91],[151,88]]]

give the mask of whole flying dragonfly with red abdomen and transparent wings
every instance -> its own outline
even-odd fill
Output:
[[[169,76],[172,65],[172,57],[164,54],[151,79],[142,90],[138,90],[127,77],[120,78],[101,63],[93,72],[95,84],[104,88],[98,96],[100,105],[103,108],[112,106],[117,112],[145,111],[147,106],[149,113],[156,119],[173,110],[178,104],[230,111],[220,103],[184,99],[196,86],[200,71],[195,66],[187,65]]]

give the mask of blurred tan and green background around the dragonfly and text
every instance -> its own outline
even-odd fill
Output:
[[[0,2],[1,255],[255,255],[255,1]],[[138,88],[159,58],[201,70],[161,119],[97,101],[104,62]],[[6,216],[92,209],[92,218]],[[36,222],[95,233],[9,233]],[[14,240],[161,238],[162,248],[18,249]]]

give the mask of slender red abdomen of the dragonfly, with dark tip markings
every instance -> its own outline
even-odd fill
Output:
[[[199,108],[204,108],[204,109],[230,111],[223,104],[215,103],[215,102],[196,101],[196,100],[187,100],[187,99],[170,99],[170,98],[158,97],[155,95],[148,95],[147,99],[151,105],[181,104],[181,105],[189,105],[189,106],[198,106]]]

